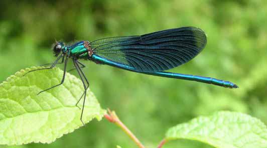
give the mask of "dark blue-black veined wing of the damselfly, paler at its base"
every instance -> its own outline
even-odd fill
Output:
[[[141,36],[112,37],[91,42],[94,54],[137,71],[172,69],[193,59],[207,43],[198,28],[184,27]]]

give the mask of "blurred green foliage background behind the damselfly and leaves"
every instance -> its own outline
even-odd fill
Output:
[[[206,48],[172,72],[232,81],[227,89],[132,73],[85,61],[90,89],[103,108],[147,146],[156,147],[171,126],[218,110],[248,113],[267,123],[267,1],[4,1],[0,2],[0,81],[55,60],[55,40],[73,43],[194,26]],[[69,64],[71,68],[71,64]],[[77,76],[75,71],[72,72]],[[136,147],[115,125],[92,121],[51,144],[18,147]],[[178,140],[165,147],[210,147]]]

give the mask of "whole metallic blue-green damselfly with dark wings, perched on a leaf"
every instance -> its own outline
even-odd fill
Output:
[[[80,41],[70,46],[65,45],[63,42],[57,42],[54,47],[54,54],[57,57],[56,61],[50,67],[37,70],[51,69],[56,64],[65,63],[63,78],[60,84],[41,92],[63,84],[69,58],[72,59],[84,86],[84,92],[76,103],[77,106],[83,98],[81,121],[86,90],[89,87],[89,82],[81,69],[85,66],[78,61],[81,59],[148,75],[191,80],[227,88],[238,88],[237,85],[229,81],[164,72],[193,59],[202,51],[206,43],[205,33],[201,29],[194,27],[169,29],[141,36],[112,37],[92,42]],[[60,59],[62,61],[58,62]],[[29,72],[33,71],[36,70]]]

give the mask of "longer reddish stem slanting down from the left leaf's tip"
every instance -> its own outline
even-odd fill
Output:
[[[107,109],[107,113],[104,117],[119,126],[140,148],[145,148],[145,146],[139,141],[139,139],[119,120],[115,111],[110,111]]]

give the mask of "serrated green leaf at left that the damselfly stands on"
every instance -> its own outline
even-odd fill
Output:
[[[0,144],[50,143],[82,126],[81,109],[75,106],[83,93],[80,79],[67,73],[63,85],[37,95],[59,84],[63,72],[53,68],[23,76],[34,69],[21,70],[0,84]],[[104,112],[88,89],[84,123],[93,118],[101,120]]]

